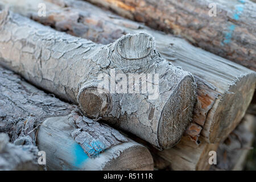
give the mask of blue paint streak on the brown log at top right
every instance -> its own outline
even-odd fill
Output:
[[[245,3],[245,0],[239,0],[239,2],[241,2],[242,4]],[[235,13],[233,14],[233,19],[234,20],[239,20],[240,19],[240,15],[243,12],[243,6],[244,5],[237,5],[236,9],[235,9]],[[236,25],[231,24],[229,26],[229,31],[225,32],[225,38],[224,40],[221,42],[221,46],[224,46],[224,44],[229,44],[231,42],[232,39],[232,35],[234,30],[236,29]]]

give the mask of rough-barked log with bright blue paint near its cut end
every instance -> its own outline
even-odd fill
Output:
[[[27,138],[31,141],[28,147],[36,143],[46,152],[47,169],[153,169],[146,147],[86,118],[77,106],[44,93],[1,67],[0,80],[0,131],[9,134],[15,144],[28,146]]]

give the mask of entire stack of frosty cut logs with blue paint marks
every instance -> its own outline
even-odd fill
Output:
[[[256,4],[219,0],[215,18],[210,1],[90,2],[105,10],[0,1],[0,169],[44,169],[39,150],[49,170],[208,170],[210,151],[211,169],[242,169],[254,136]],[[138,82],[158,96],[111,90],[129,74],[159,75]],[[110,92],[99,92],[99,75],[114,77]]]

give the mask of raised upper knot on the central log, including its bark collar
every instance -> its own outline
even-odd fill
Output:
[[[123,73],[144,72],[162,59],[155,49],[155,39],[146,33],[125,35],[108,45],[111,67]]]

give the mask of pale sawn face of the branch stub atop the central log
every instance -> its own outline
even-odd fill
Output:
[[[142,59],[154,46],[154,38],[148,34],[125,35],[117,40],[117,52],[124,59]]]

